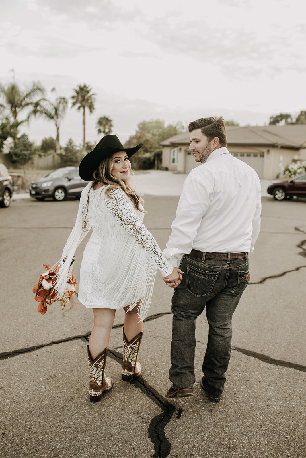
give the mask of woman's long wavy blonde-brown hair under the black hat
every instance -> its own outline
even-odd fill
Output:
[[[111,170],[113,169],[113,154],[111,156],[108,156],[107,158],[103,159],[103,161],[100,162],[98,168],[94,172],[94,180],[92,182],[92,185],[90,186],[90,191],[95,188],[99,183],[102,183],[104,185],[109,185],[106,188],[106,196],[111,198],[110,192],[112,189],[116,188],[121,188],[122,191],[126,193],[129,199],[134,204],[134,207],[136,210],[142,213],[146,213],[144,210],[141,210],[139,207],[139,203],[143,202],[141,197],[137,194],[134,189],[132,189],[131,185],[128,183],[128,180],[123,181],[119,180],[116,178],[114,175],[111,174]],[[89,204],[89,193],[88,193],[88,199],[87,199],[87,212],[88,212],[88,204]]]

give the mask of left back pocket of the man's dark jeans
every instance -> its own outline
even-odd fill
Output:
[[[186,289],[196,297],[209,296],[218,275],[219,272],[208,272],[189,264],[186,273]]]

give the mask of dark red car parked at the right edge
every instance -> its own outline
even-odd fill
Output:
[[[273,182],[267,188],[267,193],[271,194],[275,200],[292,199],[293,196],[306,197],[306,174],[285,181]]]

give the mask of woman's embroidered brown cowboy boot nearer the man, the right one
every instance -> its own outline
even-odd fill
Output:
[[[141,374],[141,364],[137,362],[139,346],[143,333],[140,332],[128,342],[123,330],[123,366],[121,379],[130,382],[134,375]]]

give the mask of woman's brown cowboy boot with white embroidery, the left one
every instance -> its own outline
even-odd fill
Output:
[[[87,345],[88,351],[88,365],[89,365],[89,397],[90,402],[98,402],[102,396],[102,393],[110,391],[112,387],[111,378],[107,378],[104,375],[106,355],[108,347],[106,347],[98,356],[92,360]]]

